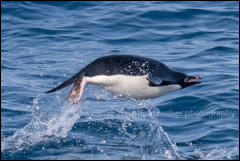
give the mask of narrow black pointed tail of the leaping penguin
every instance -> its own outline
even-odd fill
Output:
[[[55,91],[58,91],[62,88],[65,88],[75,82],[77,82],[79,79],[81,80],[82,77],[83,77],[84,74],[82,74],[81,72],[77,73],[76,75],[72,76],[70,79],[68,79],[67,81],[63,82],[62,84],[60,84],[59,86],[51,89],[51,90],[48,90],[44,93],[52,93],[52,92],[55,92]]]

